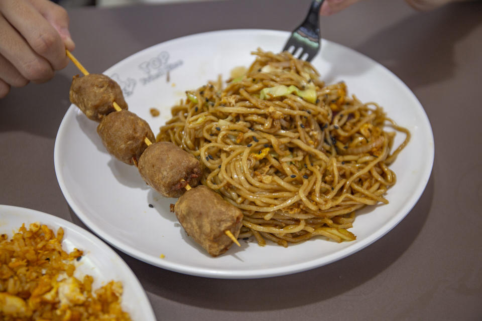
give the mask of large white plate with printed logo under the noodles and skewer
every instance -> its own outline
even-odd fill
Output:
[[[251,64],[251,51],[260,47],[277,52],[288,36],[269,30],[192,35],[147,48],[104,73],[121,84],[129,109],[146,119],[156,134],[185,90],[200,87],[218,74],[227,79],[233,67]],[[322,79],[327,83],[343,80],[350,94],[380,103],[413,137],[393,164],[398,183],[387,193],[390,204],[368,207],[363,213],[369,214],[358,215],[351,229],[356,241],[338,244],[315,239],[288,248],[242,242],[242,248],[232,247],[212,258],[186,236],[169,212],[169,204],[175,200],[156,194],[135,167],[111,157],[97,136],[97,123],[73,105],[60,125],[54,155],[67,202],[82,222],[118,249],[165,269],[206,277],[295,273],[333,262],[376,241],[407,215],[422,194],[433,164],[432,130],[417,98],[385,67],[329,41],[323,40],[321,48],[312,63]],[[160,109],[161,116],[152,117],[150,107]],[[399,134],[398,141],[403,136]]]

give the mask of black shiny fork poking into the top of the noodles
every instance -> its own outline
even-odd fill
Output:
[[[301,25],[292,33],[286,42],[283,51],[288,51],[293,56],[311,61],[320,50],[320,7],[324,0],[314,0],[311,3],[308,15]]]

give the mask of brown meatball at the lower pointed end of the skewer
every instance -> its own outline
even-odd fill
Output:
[[[243,225],[241,210],[204,185],[184,193],[174,211],[186,233],[212,256],[226,252],[232,245],[225,231],[237,238]]]

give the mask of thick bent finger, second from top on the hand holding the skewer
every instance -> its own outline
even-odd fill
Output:
[[[8,0],[1,3],[4,17],[37,54],[47,59],[54,70],[67,66],[62,38],[30,2]]]

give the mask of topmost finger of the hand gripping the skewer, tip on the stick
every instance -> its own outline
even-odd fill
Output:
[[[50,0],[30,0],[30,2],[57,30],[65,47],[69,51],[73,51],[75,49],[75,43],[70,36],[69,15],[67,14],[67,11]]]

